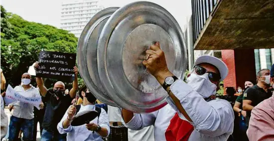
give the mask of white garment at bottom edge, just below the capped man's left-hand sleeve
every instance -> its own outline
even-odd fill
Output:
[[[154,140],[154,127],[149,126],[141,130],[128,129],[129,141],[155,141]]]

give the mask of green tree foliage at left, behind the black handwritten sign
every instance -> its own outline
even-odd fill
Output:
[[[41,50],[76,53],[77,37],[51,25],[29,22],[1,5],[1,68],[7,84],[20,84],[21,74]]]

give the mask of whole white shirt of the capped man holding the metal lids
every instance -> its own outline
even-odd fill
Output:
[[[182,107],[193,121],[193,123],[189,122],[193,125],[194,131],[188,141],[227,141],[233,132],[234,121],[233,109],[229,102],[225,100],[206,102],[198,92],[182,80],[175,81],[170,86],[170,90],[180,100]],[[133,119],[125,126],[132,130],[140,130],[154,125],[155,141],[166,141],[165,131],[176,112],[181,119],[187,121],[170,97],[167,97],[166,101],[168,104],[158,111],[135,113]]]

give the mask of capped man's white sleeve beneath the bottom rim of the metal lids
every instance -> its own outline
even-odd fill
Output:
[[[121,112],[121,115],[122,115],[121,108],[119,111]],[[134,113],[132,120],[127,124],[125,123],[122,116],[122,123],[125,125],[125,127],[131,130],[141,130],[144,127],[154,125],[157,115],[158,115],[158,111],[145,113],[145,114]]]

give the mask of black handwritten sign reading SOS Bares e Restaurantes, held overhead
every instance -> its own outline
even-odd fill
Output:
[[[73,67],[76,63],[76,54],[41,51],[38,62],[36,77],[62,81],[72,81],[74,78]]]

